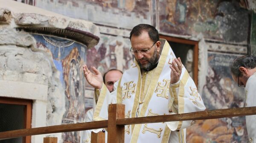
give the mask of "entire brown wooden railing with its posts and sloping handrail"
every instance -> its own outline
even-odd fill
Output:
[[[256,115],[256,107],[216,109],[175,115],[125,118],[125,105],[111,104],[108,107],[108,120],[0,132],[0,140],[30,135],[108,128],[108,143],[124,143],[125,125],[141,123],[159,123],[168,121],[205,120],[244,115]],[[101,136],[93,135],[91,138],[91,143],[105,143],[105,140],[104,142],[103,140],[101,140],[104,134],[102,134]],[[44,138],[44,143],[56,143],[52,142],[52,140],[57,139]]]

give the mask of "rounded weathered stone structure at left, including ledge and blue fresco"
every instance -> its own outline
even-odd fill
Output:
[[[87,48],[99,42],[99,29],[22,3],[0,3],[0,97],[32,99],[32,127],[82,122],[87,105],[81,66]],[[70,135],[54,136],[62,142]],[[77,133],[71,136],[79,140]]]

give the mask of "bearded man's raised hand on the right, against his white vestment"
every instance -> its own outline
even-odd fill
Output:
[[[172,60],[172,65],[170,65],[171,70],[171,84],[175,84],[179,81],[182,72],[182,62],[180,58]]]

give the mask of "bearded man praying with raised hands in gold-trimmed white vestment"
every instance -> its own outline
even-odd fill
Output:
[[[176,59],[169,43],[151,25],[140,24],[130,34],[134,63],[110,93],[99,71],[83,66],[84,76],[99,95],[93,120],[108,119],[108,104],[125,104],[125,118],[181,114],[205,110],[194,81]],[[186,127],[194,121],[125,126],[125,143],[186,143]]]

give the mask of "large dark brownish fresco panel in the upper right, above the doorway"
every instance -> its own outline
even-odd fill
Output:
[[[160,31],[247,42],[247,0],[160,0]]]

